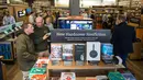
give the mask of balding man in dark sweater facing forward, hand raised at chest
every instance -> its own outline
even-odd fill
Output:
[[[35,19],[35,30],[33,34],[33,41],[35,45],[35,52],[38,54],[38,57],[46,57],[48,53],[48,27],[44,26],[44,20],[42,16]]]

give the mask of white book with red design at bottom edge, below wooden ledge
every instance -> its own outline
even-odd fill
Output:
[[[76,80],[75,72],[62,72],[61,80]]]

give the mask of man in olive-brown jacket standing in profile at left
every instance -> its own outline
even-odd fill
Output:
[[[30,35],[34,33],[34,27],[31,23],[24,23],[22,25],[23,33],[16,38],[16,57],[20,69],[23,73],[23,80],[29,78],[29,70],[35,64],[37,56],[34,52],[33,41]]]

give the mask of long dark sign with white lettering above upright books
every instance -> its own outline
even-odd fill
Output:
[[[53,43],[81,43],[101,42],[109,43],[111,37],[110,30],[54,30],[51,34]]]

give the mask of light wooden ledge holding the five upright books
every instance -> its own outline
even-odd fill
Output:
[[[91,66],[87,61],[85,61],[84,66],[77,66],[75,61],[73,61],[72,66],[64,66],[64,61],[59,61],[59,65],[53,66],[52,61],[48,62],[47,69],[116,69],[116,68],[124,68],[123,65],[106,65],[103,61],[100,61],[97,66]]]

